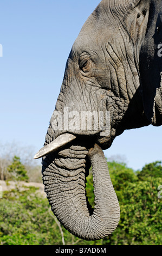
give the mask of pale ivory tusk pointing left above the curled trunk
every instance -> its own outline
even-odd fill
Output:
[[[39,159],[47,154],[54,152],[60,148],[62,148],[67,143],[73,141],[76,136],[70,133],[63,133],[59,137],[57,137],[53,142],[49,143],[48,145],[44,146],[42,149],[38,151],[38,153],[34,156],[34,159]]]

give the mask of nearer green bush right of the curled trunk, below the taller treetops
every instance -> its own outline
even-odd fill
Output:
[[[108,245],[162,245],[161,178],[127,184],[120,203],[118,228],[104,240]]]

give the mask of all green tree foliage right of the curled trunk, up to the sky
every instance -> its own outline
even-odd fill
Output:
[[[123,164],[108,163],[119,199],[121,217],[118,228],[104,239],[106,245],[161,245],[162,185],[160,162],[146,164],[133,172]],[[150,174],[150,175],[149,175]]]

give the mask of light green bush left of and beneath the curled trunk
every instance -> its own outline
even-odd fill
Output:
[[[58,221],[48,200],[35,187],[12,190],[0,199],[0,245],[62,245]],[[66,245],[96,245],[99,241],[81,240],[61,226]]]

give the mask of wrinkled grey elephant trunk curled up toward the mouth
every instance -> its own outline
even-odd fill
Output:
[[[92,164],[95,209],[86,197],[87,155]],[[98,240],[114,231],[120,207],[99,145],[89,151],[73,145],[49,154],[44,157],[42,173],[51,210],[70,233],[81,239]]]

